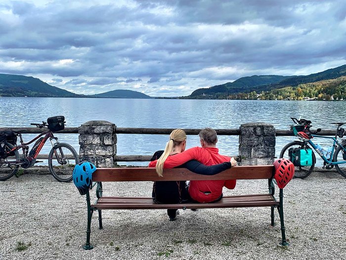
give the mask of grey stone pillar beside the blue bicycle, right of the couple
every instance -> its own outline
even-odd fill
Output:
[[[276,129],[266,123],[247,123],[240,126],[239,156],[241,165],[273,164]]]

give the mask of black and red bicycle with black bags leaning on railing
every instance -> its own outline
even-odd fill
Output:
[[[53,132],[63,130],[65,128],[65,117],[54,116],[49,117],[47,122],[42,124],[31,123],[39,128],[47,128],[46,131],[39,134],[28,143],[24,143],[22,132],[25,130],[12,130],[0,132],[0,181],[7,180],[13,175],[17,176],[19,166],[22,168],[32,167],[35,163],[45,142],[49,139],[52,149],[48,155],[49,171],[54,178],[60,182],[70,182],[72,180],[72,172],[76,164],[79,163],[79,156],[76,150],[66,143],[59,143],[58,138]],[[20,145],[16,145],[19,136]],[[29,146],[35,142],[33,148],[29,152]],[[19,156],[19,150],[22,155]]]

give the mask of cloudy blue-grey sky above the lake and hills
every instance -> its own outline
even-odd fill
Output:
[[[346,64],[345,0],[1,0],[0,73],[187,96]]]

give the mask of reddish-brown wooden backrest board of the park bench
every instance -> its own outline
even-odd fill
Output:
[[[270,179],[273,165],[235,166],[213,176],[196,174],[186,168],[165,169],[160,177],[155,168],[97,168],[92,181],[184,181],[184,180],[241,180]]]

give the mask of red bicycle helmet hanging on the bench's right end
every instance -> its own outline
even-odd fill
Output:
[[[293,178],[294,165],[290,160],[280,158],[274,161],[274,167],[274,178],[277,182],[277,186],[283,189]]]

